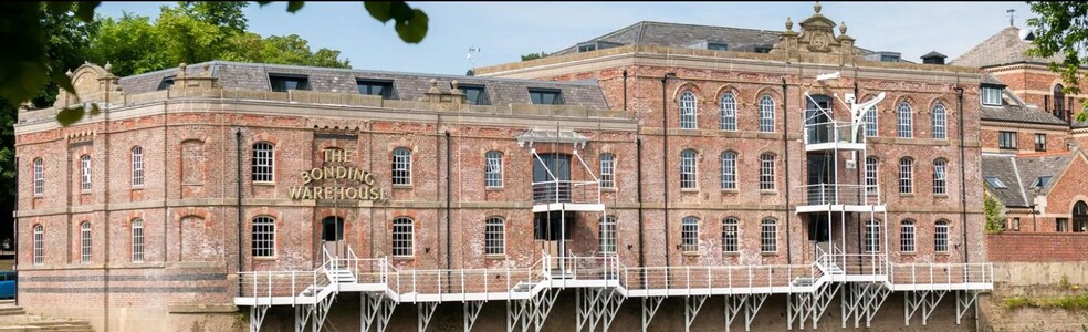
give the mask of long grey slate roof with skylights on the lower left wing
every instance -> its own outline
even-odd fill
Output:
[[[186,68],[186,74],[199,74],[206,64],[209,66],[211,75],[219,77],[219,85],[228,89],[270,91],[269,74],[272,73],[305,75],[311,91],[357,93],[356,80],[369,79],[393,81],[393,98],[395,100],[417,101],[430,90],[431,79],[438,80],[438,87],[441,91],[449,91],[450,81],[457,80],[461,86],[483,86],[490,105],[531,104],[529,89],[547,89],[559,91],[566,105],[584,105],[589,110],[609,110],[608,102],[596,80],[559,82],[227,61],[190,64]],[[158,90],[163,79],[175,76],[178,71],[177,68],[166,69],[122,77],[119,81],[126,93],[151,92]]]

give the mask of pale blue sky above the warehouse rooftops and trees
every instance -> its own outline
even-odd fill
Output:
[[[103,2],[97,13],[123,11],[158,15],[175,2]],[[520,61],[521,54],[554,52],[634,24],[662,21],[749,29],[783,30],[786,17],[801,22],[813,2],[408,2],[430,18],[427,38],[406,44],[374,20],[362,2],[306,2],[292,14],[286,2],[245,9],[250,30],[261,35],[299,34],[311,49],[339,50],[356,69],[464,74],[469,48],[475,66]],[[824,15],[846,22],[861,48],[902,52],[920,62],[930,51],[959,56],[1008,27],[1015,9],[1017,27],[1032,15],[1024,2],[822,2]],[[796,29],[796,28],[795,28]]]

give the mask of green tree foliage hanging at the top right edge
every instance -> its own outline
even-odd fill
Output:
[[[1035,29],[1035,40],[1028,55],[1064,56],[1061,62],[1048,64],[1061,75],[1065,93],[1080,93],[1081,68],[1088,61],[1088,2],[1082,1],[1029,1],[1032,11],[1038,14],[1027,20]],[[1088,121],[1088,113],[1077,113],[1078,121]]]

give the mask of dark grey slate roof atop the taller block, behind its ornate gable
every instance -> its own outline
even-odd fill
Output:
[[[781,33],[782,31],[773,30],[641,21],[586,42],[605,43],[601,46],[636,44],[689,48],[711,41],[728,43],[729,51],[755,52],[756,46],[771,48],[777,43]],[[861,55],[873,53],[870,50],[856,49],[861,52]],[[559,50],[552,55],[576,53],[577,51],[577,45],[574,45]]]

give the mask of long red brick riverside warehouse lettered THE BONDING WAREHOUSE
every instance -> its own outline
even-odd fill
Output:
[[[111,331],[294,308],[320,330],[353,299],[380,331],[400,303],[423,330],[495,301],[540,330],[574,290],[578,330],[625,301],[679,329],[652,321],[678,295],[684,328],[711,297],[746,328],[782,299],[781,330],[833,299],[843,328],[889,297],[924,322],[951,292],[959,323],[993,287],[982,75],[859,49],[819,10],[799,31],[642,22],[477,76],[81,66],[79,101],[17,124],[20,304]]]

